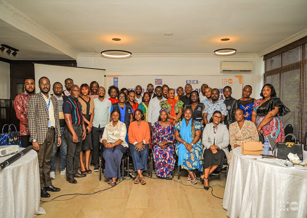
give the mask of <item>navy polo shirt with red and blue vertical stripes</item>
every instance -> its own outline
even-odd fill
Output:
[[[83,124],[82,107],[78,99],[69,95],[63,103],[63,113],[71,115],[70,121],[72,124]]]

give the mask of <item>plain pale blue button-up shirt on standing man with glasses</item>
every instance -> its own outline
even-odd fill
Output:
[[[110,113],[112,103],[109,99],[104,98],[102,101],[99,98],[94,99],[94,118],[93,126],[98,128],[105,127],[110,122]]]

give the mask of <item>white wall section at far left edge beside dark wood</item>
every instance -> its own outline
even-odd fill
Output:
[[[10,64],[0,61],[0,99],[10,99]]]

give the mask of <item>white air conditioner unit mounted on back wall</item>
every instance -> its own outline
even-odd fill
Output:
[[[221,73],[250,73],[254,69],[252,61],[221,61]]]

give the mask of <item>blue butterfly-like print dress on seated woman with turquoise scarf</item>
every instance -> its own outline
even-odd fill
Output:
[[[182,121],[185,122],[185,119]],[[194,129],[196,130],[203,130],[204,126],[198,122],[198,121],[193,121],[194,122]],[[175,130],[180,131],[180,127],[181,127],[181,122],[178,122],[175,124]],[[190,137],[193,140],[195,137],[195,131],[191,131],[190,132]],[[180,134],[180,132],[179,132]],[[185,140],[185,139],[183,139]],[[177,142],[176,143],[176,154],[178,155],[178,146],[181,143]],[[203,143],[201,142],[201,139],[199,139],[192,147],[191,151],[187,151],[187,155],[186,157],[183,159],[183,164],[181,165],[182,168],[186,169],[186,170],[193,170],[193,169],[198,169],[198,171],[203,170],[203,160],[201,159],[201,155],[202,155],[202,147],[203,147]]]

